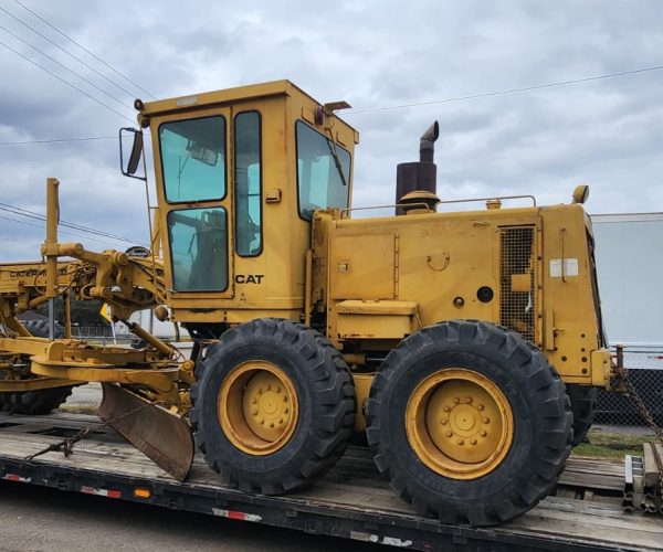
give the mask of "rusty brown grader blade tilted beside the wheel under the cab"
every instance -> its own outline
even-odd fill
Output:
[[[193,461],[188,422],[114,383],[103,383],[98,415],[157,466],[183,481]]]

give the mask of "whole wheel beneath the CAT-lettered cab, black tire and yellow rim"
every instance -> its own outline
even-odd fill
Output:
[[[339,352],[281,319],[228,330],[196,370],[191,423],[225,482],[277,495],[311,485],[347,447],[355,390]]]

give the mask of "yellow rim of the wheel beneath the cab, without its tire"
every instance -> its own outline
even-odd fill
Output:
[[[286,373],[266,361],[243,362],[219,390],[219,422],[240,450],[257,456],[275,453],[297,425],[297,393]]]

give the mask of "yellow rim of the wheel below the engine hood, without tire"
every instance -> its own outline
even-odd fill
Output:
[[[408,440],[433,471],[476,479],[508,453],[514,423],[504,393],[484,375],[449,369],[425,378],[406,411]]]

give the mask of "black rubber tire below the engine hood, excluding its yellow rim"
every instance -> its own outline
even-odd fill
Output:
[[[509,452],[476,479],[429,469],[406,434],[412,391],[445,368],[467,368],[491,379],[514,414]],[[470,526],[503,523],[549,493],[571,449],[571,424],[564,382],[546,357],[519,335],[476,320],[446,321],[406,338],[376,375],[367,411],[375,463],[397,495],[423,514]]]

